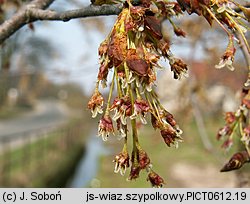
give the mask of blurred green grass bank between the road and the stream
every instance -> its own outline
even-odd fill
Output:
[[[74,127],[71,121],[68,128]],[[79,123],[79,121],[78,121]],[[49,133],[46,137],[0,155],[2,172],[0,185],[8,187],[60,187],[74,170],[82,156],[86,129],[68,128]],[[69,131],[69,132],[70,132]],[[72,132],[73,131],[73,132]],[[74,132],[75,131],[75,132]],[[1,170],[0,169],[0,170]]]

